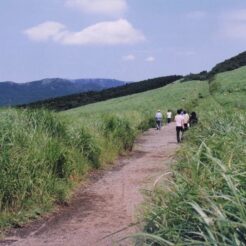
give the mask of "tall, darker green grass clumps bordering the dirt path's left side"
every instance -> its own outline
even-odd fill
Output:
[[[95,133],[46,110],[0,112],[0,227],[63,203],[84,174],[110,161],[108,149],[116,156],[132,148],[137,129],[128,120],[111,115],[98,123]]]

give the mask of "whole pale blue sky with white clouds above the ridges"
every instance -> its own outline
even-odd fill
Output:
[[[140,81],[245,50],[245,0],[0,1],[0,81]]]

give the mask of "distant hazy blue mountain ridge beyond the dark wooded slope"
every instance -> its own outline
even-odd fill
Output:
[[[26,104],[75,93],[100,91],[124,84],[126,82],[115,79],[47,78],[27,83],[6,81],[0,83],[0,106]]]

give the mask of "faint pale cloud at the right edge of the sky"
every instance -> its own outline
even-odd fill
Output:
[[[246,40],[246,9],[234,10],[220,16],[222,37]]]

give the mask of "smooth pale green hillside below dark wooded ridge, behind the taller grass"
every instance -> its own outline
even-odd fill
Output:
[[[160,89],[155,89],[131,96],[111,99],[101,103],[61,112],[72,126],[85,124],[90,126],[94,119],[100,119],[104,114],[117,114],[129,119],[137,125],[143,118],[153,117],[157,109],[163,113],[167,109],[175,111],[185,107],[198,96],[208,95],[208,85],[203,81],[175,82]]]

